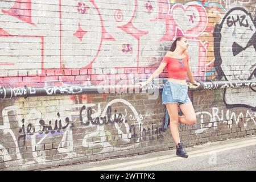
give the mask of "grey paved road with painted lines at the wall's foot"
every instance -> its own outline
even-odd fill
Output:
[[[169,170],[256,170],[256,137],[209,142],[185,148],[188,158],[176,156],[176,150],[153,152],[127,158],[88,162],[51,168],[59,171],[169,171]]]

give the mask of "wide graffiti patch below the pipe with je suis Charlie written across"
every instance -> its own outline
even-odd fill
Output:
[[[110,101],[103,110],[101,104],[46,106],[45,110],[21,109],[16,104],[2,110],[0,131],[8,140],[0,145],[4,161],[31,164],[50,161],[48,152],[63,154],[65,159],[86,155],[84,150],[93,154],[126,150],[143,141],[162,143],[166,132],[154,123],[145,125],[143,116],[122,99]],[[83,148],[76,150],[76,146]],[[6,148],[14,148],[14,154]]]

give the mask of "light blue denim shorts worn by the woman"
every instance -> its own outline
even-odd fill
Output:
[[[188,97],[188,85],[177,84],[175,82],[167,81],[164,84],[162,93],[162,104],[186,104],[191,102]]]

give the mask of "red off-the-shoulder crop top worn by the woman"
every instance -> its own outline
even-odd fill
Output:
[[[164,57],[161,63],[167,63],[168,78],[184,80],[187,78],[189,56],[183,59]]]

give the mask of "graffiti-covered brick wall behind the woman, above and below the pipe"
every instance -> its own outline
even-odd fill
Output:
[[[197,80],[255,80],[253,2],[11,0],[0,9],[1,86],[134,84],[150,77],[176,36],[189,40]],[[169,150],[159,91],[1,100],[0,169]],[[255,134],[255,91],[189,91],[197,122],[180,125],[183,143]]]

